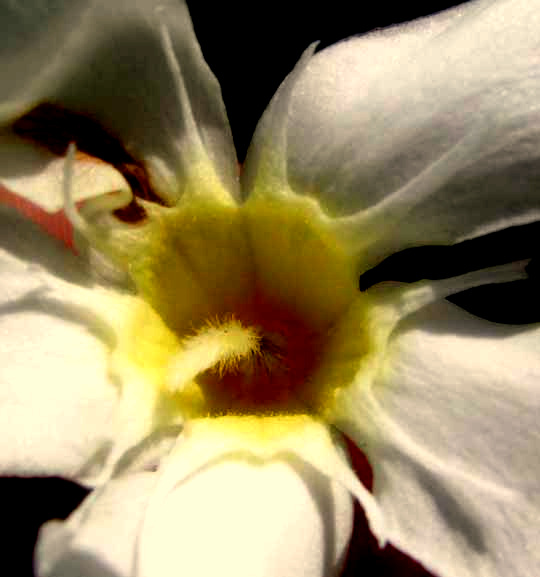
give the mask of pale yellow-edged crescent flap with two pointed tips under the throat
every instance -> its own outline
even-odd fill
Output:
[[[181,442],[167,457],[170,464],[161,475],[149,514],[162,507],[175,486],[209,463],[236,455],[250,455],[253,460],[266,463],[290,455],[314,475],[322,475],[354,496],[382,546],[386,542],[384,518],[345,453],[342,439],[333,429],[306,415],[192,420],[186,423]]]

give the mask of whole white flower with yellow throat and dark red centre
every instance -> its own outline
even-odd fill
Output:
[[[357,279],[538,220],[537,4],[312,46],[241,181],[183,3],[6,5],[2,180],[81,253],[3,209],[4,471],[95,487],[42,575],[335,574],[351,495],[442,577],[534,571],[539,328],[443,300],[524,263]]]

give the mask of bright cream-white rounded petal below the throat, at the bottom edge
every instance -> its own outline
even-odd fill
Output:
[[[228,460],[170,494],[141,543],[141,576],[329,577],[351,527],[350,495],[300,459]]]

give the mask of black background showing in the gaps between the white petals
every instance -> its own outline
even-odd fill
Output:
[[[314,40],[321,46],[377,27],[437,12],[455,2],[189,2],[204,55],[218,77],[240,161],[265,106]],[[405,251],[365,275],[361,288],[384,279],[414,281],[459,274],[533,256],[538,226],[520,227],[466,246],[423,247]],[[444,251],[444,253],[442,252]],[[494,255],[496,255],[494,257]],[[495,262],[494,262],[495,258]],[[444,262],[444,268],[441,267]],[[448,267],[451,270],[449,272]],[[531,267],[534,272],[534,266]],[[458,295],[458,304],[475,314],[506,323],[540,320],[538,275],[533,280],[475,289]],[[535,298],[536,297],[536,298]],[[501,305],[501,303],[503,303]],[[39,526],[66,517],[85,491],[60,479],[0,479],[4,530],[3,566],[14,575],[32,575],[32,549]],[[377,553],[358,512],[354,554],[348,577],[412,577],[426,575],[399,552]],[[362,544],[364,543],[364,544]],[[76,576],[74,576],[76,577]],[[279,577],[279,576],[276,576]]]

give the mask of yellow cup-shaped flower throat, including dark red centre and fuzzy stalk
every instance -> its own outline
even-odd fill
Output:
[[[324,417],[370,342],[344,322],[356,263],[319,205],[188,195],[147,213],[107,241],[138,290],[115,357],[184,418]]]

